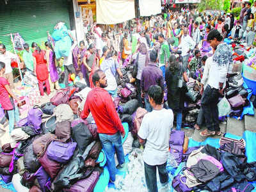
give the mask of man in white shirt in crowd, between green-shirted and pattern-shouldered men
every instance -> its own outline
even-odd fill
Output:
[[[188,35],[188,28],[184,28],[183,33],[179,48],[181,48],[182,65],[184,68],[188,68],[189,51],[195,48],[196,43]]]

